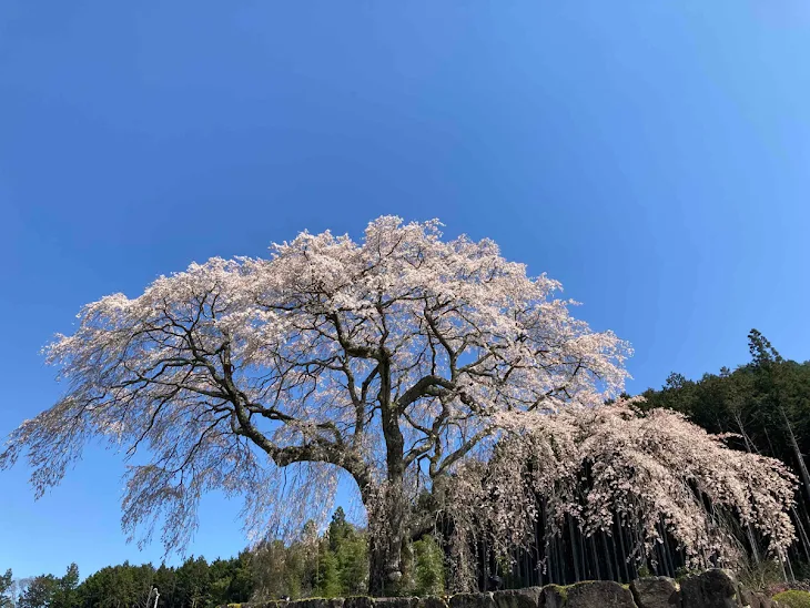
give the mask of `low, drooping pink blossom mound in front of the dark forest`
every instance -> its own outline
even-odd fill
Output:
[[[443,511],[459,589],[479,586],[479,539],[504,557],[540,536],[549,555],[564,526],[586,539],[634,530],[627,553],[637,565],[656,566],[666,535],[686,567],[702,568],[743,557],[733,520],[766,538],[771,557],[784,558],[794,540],[796,478],[787,467],[730,449],[681,414],[639,413],[634,402],[568,407],[512,425],[490,459],[459,468]]]

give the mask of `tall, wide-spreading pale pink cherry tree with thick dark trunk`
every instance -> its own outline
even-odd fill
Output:
[[[107,437],[132,457],[125,527],[162,517],[170,546],[206,490],[244,495],[257,525],[298,525],[343,473],[381,592],[402,576],[417,492],[523,416],[621,389],[627,345],[574,318],[559,288],[492,241],[393,216],[361,243],[304,232],[266,260],[192,264],[81,311],[47,348],[64,396],[12,433],[0,466],[27,453],[41,495]]]

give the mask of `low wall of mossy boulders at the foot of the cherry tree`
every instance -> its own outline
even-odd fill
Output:
[[[630,585],[591,580],[446,597],[301,599],[230,604],[231,608],[779,608],[742,588],[728,570],[707,570],[679,580],[640,578]],[[225,608],[225,607],[221,607]]]

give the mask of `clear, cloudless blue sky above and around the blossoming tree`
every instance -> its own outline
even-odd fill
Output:
[[[381,214],[489,236],[629,340],[638,392],[810,358],[810,4],[539,0],[0,3],[0,435],[59,395],[79,307]],[[0,570],[140,553],[123,465],[38,503],[0,473]],[[203,503],[191,550],[245,545]]]

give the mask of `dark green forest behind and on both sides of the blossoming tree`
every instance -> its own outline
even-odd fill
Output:
[[[646,391],[638,407],[682,413],[710,433],[727,434],[735,449],[779,458],[796,473],[799,484],[791,518],[797,543],[786,564],[767,559],[760,539],[750,530],[739,530],[748,559],[738,574],[750,586],[761,588],[777,580],[810,578],[810,474],[806,459],[810,453],[810,362],[782,358],[756,330],[748,340],[747,363],[707,373],[699,379],[674,373],[660,389]],[[428,595],[446,589],[446,543],[442,534],[437,528],[434,535],[409,547],[404,592]],[[661,559],[654,564],[624,559],[618,550],[622,534],[631,530],[618,529],[596,540],[571,533],[554,545],[537,538],[538,550],[534,554],[516,554],[510,560],[482,557],[480,587],[486,587],[493,576],[500,577],[507,587],[522,587],[587,577],[627,580],[648,572],[681,574],[677,551],[668,551],[667,547],[661,548]],[[547,560],[540,555],[541,547],[547,550]],[[600,555],[599,547],[604,547],[605,555]],[[24,580],[14,579],[8,570],[0,577],[0,608],[145,608],[154,605],[154,588],[162,608],[205,608],[283,597],[345,597],[365,592],[367,564],[364,530],[348,523],[338,508],[321,535],[310,525],[302,540],[266,540],[230,559],[207,561],[192,556],[178,567],[124,563],[102,568],[83,580],[74,564],[62,576],[47,574]]]

